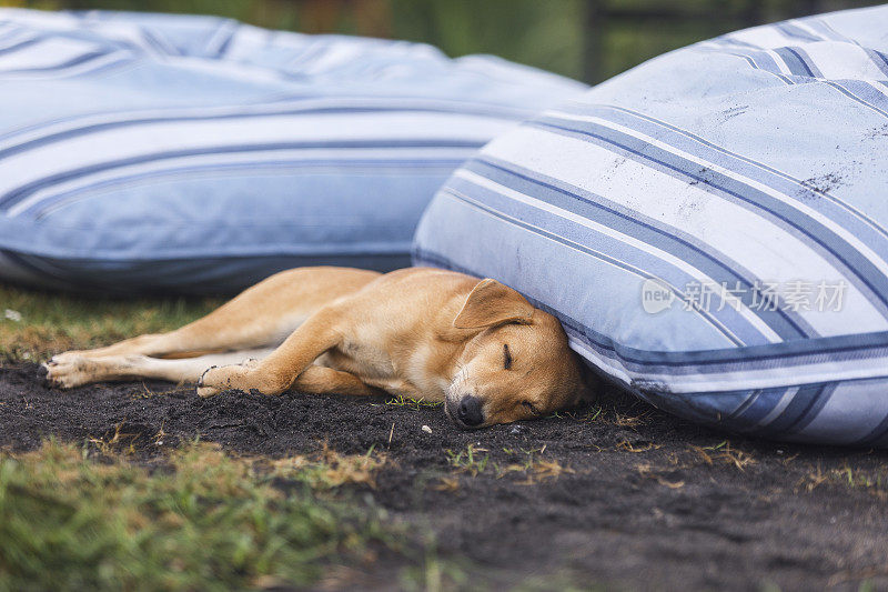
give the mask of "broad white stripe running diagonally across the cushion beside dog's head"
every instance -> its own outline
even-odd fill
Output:
[[[527,169],[543,169],[565,183],[605,194],[610,201],[705,240],[716,251],[731,253],[737,263],[766,281],[845,280],[844,273],[817,251],[763,217],[589,142],[524,127],[511,133],[507,141],[492,141],[483,153]],[[657,199],[648,198],[652,192]],[[687,204],[692,202],[698,208],[688,213]],[[722,223],[724,220],[736,223],[726,225]],[[759,233],[753,237],[749,229],[758,229]],[[736,249],[738,243],[745,244],[743,253]],[[775,255],[773,244],[781,245],[780,255]],[[801,314],[823,335],[888,329],[888,321],[851,284],[846,297],[847,314],[815,311]]]

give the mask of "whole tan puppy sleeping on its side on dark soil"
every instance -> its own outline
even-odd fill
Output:
[[[554,317],[494,280],[426,268],[284,271],[181,329],[65,352],[43,371],[61,388],[153,378],[196,382],[201,397],[384,391],[444,401],[462,428],[544,415],[587,391]]]

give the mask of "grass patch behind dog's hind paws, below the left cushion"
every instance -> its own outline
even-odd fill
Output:
[[[0,361],[41,360],[141,333],[176,329],[222,299],[110,299],[0,284]]]

